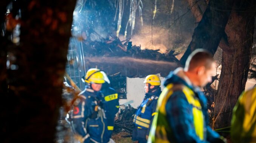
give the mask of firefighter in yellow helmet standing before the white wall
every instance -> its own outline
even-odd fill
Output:
[[[134,115],[134,129],[132,139],[139,143],[147,143],[153,117],[156,114],[156,105],[161,93],[160,78],[157,75],[148,75],[145,78],[145,98]]]

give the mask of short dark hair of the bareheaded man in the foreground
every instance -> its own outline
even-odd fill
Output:
[[[185,71],[192,71],[198,66],[204,66],[210,69],[211,64],[215,62],[213,55],[205,49],[196,49],[189,56],[185,63]]]

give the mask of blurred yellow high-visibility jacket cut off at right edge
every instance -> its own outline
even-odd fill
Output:
[[[256,143],[256,88],[243,92],[231,121],[232,143]]]

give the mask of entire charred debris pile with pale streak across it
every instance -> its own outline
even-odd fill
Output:
[[[92,34],[98,39],[80,39],[87,69],[97,67],[108,75],[120,72],[126,77],[145,77],[158,73],[166,76],[179,64],[174,51],[160,53],[160,50],[143,49],[145,47],[132,45],[131,39],[120,41],[115,35],[103,38],[96,32]]]

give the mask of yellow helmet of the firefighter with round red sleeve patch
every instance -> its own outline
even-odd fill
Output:
[[[85,82],[102,84],[105,83],[105,80],[102,72],[99,69],[92,68],[86,72]]]

